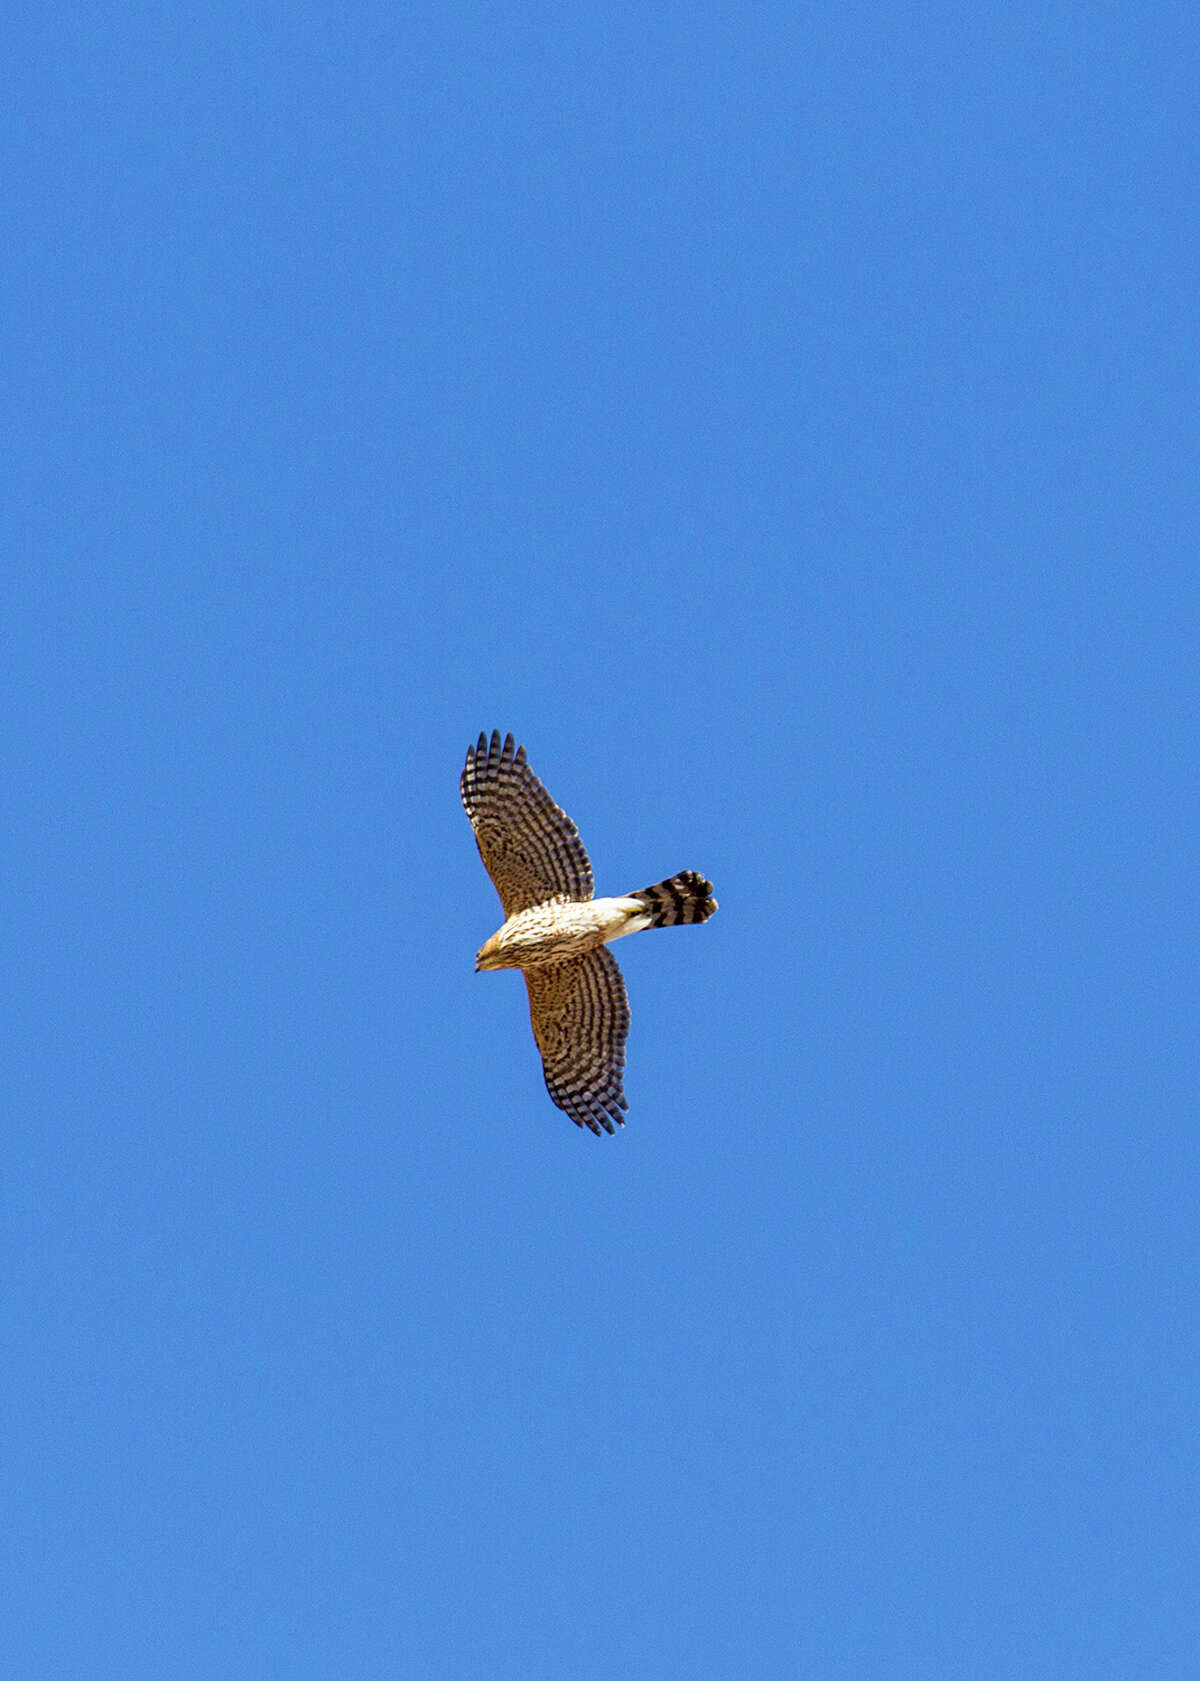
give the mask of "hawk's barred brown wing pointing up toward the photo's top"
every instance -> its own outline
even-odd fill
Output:
[[[546,899],[590,899],[592,866],[578,830],[524,761],[513,736],[492,730],[467,748],[462,804],[476,830],[484,869],[501,896],[504,914]]]

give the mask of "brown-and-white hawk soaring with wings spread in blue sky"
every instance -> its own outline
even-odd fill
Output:
[[[629,1002],[610,940],[642,928],[704,923],[713,883],[686,869],[620,899],[592,898],[592,866],[578,830],[550,798],[513,736],[492,730],[467,748],[462,804],[508,921],[476,956],[476,970],[519,968],[541,1051],[546,1091],[576,1126],[625,1125]]]

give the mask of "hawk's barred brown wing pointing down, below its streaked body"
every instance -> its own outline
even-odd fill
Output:
[[[624,1126],[629,1000],[617,958],[595,946],[568,963],[526,968],[524,983],[550,1096],[597,1136],[613,1121]]]

